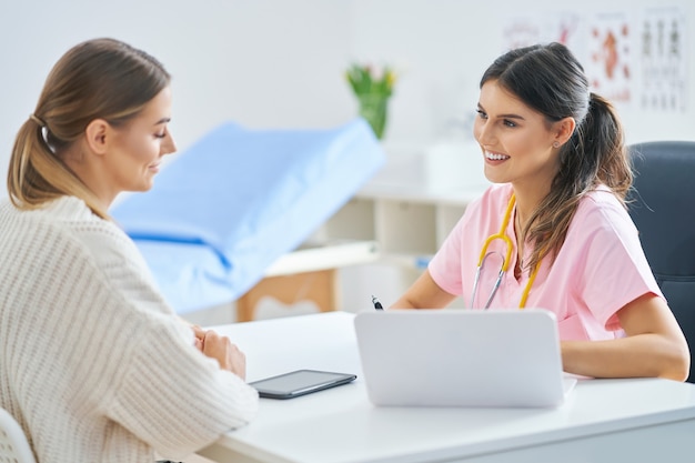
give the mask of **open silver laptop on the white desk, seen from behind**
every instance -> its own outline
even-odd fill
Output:
[[[576,383],[546,310],[369,311],[354,324],[375,405],[551,407]]]

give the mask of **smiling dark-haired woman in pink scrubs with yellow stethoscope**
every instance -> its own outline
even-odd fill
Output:
[[[612,104],[560,43],[503,54],[480,88],[474,135],[493,185],[391,308],[543,308],[566,372],[684,381],[688,348],[626,210]]]

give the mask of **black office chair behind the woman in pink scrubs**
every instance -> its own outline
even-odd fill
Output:
[[[635,190],[629,214],[659,288],[691,349],[695,383],[695,141],[629,147]]]

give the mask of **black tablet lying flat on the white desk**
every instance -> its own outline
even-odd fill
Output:
[[[318,370],[296,370],[278,376],[249,383],[259,391],[261,397],[292,399],[324,389],[346,384],[357,376],[350,373],[334,373]]]

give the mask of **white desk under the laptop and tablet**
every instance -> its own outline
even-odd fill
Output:
[[[581,381],[551,410],[375,407],[360,378],[353,316],[216,326],[246,353],[249,381],[295,369],[359,378],[289,401],[262,399],[254,422],[200,454],[234,463],[693,461],[695,385],[687,383]]]

